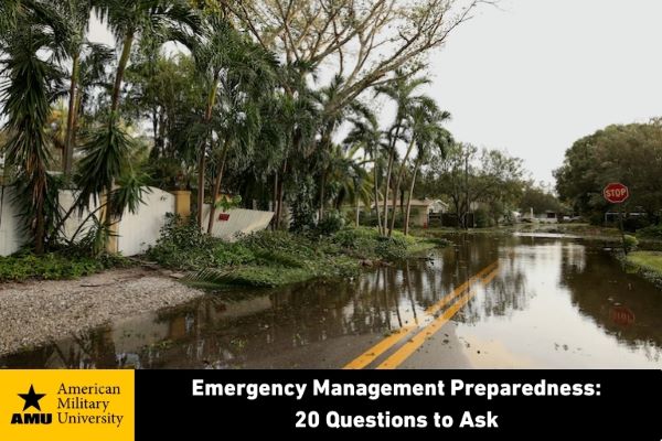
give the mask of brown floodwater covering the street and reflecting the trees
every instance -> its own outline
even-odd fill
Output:
[[[662,290],[562,237],[452,236],[356,280],[221,292],[0,358],[75,368],[662,368]]]

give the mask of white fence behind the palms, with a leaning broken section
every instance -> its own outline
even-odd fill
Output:
[[[160,189],[149,187],[143,194],[145,203],[140,205],[135,214],[125,212],[117,225],[117,238],[114,249],[124,256],[136,256],[145,252],[154,245],[160,237],[161,228],[166,222],[167,213],[190,213],[190,198],[182,198],[182,193],[175,192],[177,196]],[[62,209],[66,213],[75,203],[75,194],[71,191],[60,193],[58,201]],[[10,186],[0,185],[0,256],[9,256],[20,249],[28,240],[25,225],[20,216],[19,207],[14,203],[15,193]],[[185,203],[182,203],[185,201]],[[90,209],[98,205],[90,201]],[[203,214],[209,219],[210,206],[206,205]],[[77,238],[93,225],[88,219],[89,212],[73,212],[63,226],[62,236],[65,239],[78,232]],[[250,234],[265,229],[274,213],[258,212],[255,209],[231,209],[229,212],[216,212],[216,219],[212,235],[224,240],[234,240],[241,234]],[[203,223],[206,227],[207,220]]]

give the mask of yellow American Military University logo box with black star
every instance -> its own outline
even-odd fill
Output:
[[[135,406],[131,370],[0,369],[0,441],[134,441]]]

